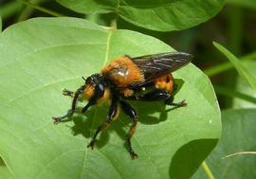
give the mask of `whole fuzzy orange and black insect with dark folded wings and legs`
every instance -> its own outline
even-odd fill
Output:
[[[120,106],[133,122],[127,136],[127,144],[131,157],[136,158],[137,153],[133,150],[131,137],[135,134],[137,127],[137,113],[127,100],[162,100],[165,104],[175,107],[186,105],[184,101],[173,102],[174,78],[171,72],[190,63],[191,60],[192,55],[183,52],[160,53],[136,58],[119,57],[103,67],[101,73],[83,79],[85,83],[75,93],[64,90],[64,95],[73,97],[71,109],[66,115],[53,117],[53,119],[55,123],[59,123],[65,117],[72,116],[76,112],[76,104],[80,96],[88,100],[82,108],[82,113],[92,105],[109,100],[107,120],[98,127],[87,147],[94,148],[97,135],[118,117]]]

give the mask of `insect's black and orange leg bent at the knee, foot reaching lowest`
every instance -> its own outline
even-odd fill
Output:
[[[127,144],[128,144],[128,150],[130,152],[132,159],[135,159],[135,158],[137,158],[137,153],[134,152],[134,150],[133,150],[131,138],[135,134],[136,128],[137,128],[137,113],[128,103],[126,103],[124,101],[120,101],[120,105],[121,105],[121,109],[124,111],[124,113],[126,115],[130,116],[130,118],[133,121],[133,124],[131,125],[128,136],[127,136]]]

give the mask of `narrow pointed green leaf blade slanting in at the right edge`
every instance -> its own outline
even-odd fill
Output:
[[[255,69],[248,69],[247,67],[245,67],[243,65],[243,63],[241,63],[231,52],[229,52],[229,50],[227,48],[225,48],[223,45],[219,45],[218,43],[214,43],[213,45],[219,50],[221,51],[230,61],[230,63],[232,63],[234,65],[234,67],[236,68],[236,70],[238,71],[238,73],[244,77],[244,79],[247,80],[247,82],[251,85],[251,87],[256,90],[256,76],[254,76],[252,74],[252,71],[254,71]]]

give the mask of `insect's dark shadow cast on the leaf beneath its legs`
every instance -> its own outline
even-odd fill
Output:
[[[178,85],[174,93],[177,93],[180,90],[183,82],[184,81],[182,80],[175,80],[175,83]],[[137,111],[138,125],[139,123],[151,125],[165,121],[167,119],[168,112],[175,109],[175,107],[166,107],[163,101],[145,102],[131,100],[128,101],[128,103],[130,103]],[[89,139],[96,132],[101,123],[107,119],[108,107],[108,105],[93,106],[84,114],[81,113],[82,108],[79,107],[77,108],[78,113],[67,118],[64,122],[73,120],[74,126],[71,127],[72,133],[74,135],[82,134],[86,139]],[[166,110],[166,108],[169,109]],[[129,131],[128,126],[131,125],[132,120],[122,111],[120,111],[120,115],[117,120],[118,121],[114,120],[108,129],[99,134],[95,144],[97,148],[102,148],[108,143],[109,133],[112,133],[112,131],[115,131],[119,137],[123,139],[124,145],[127,148],[125,140]]]

